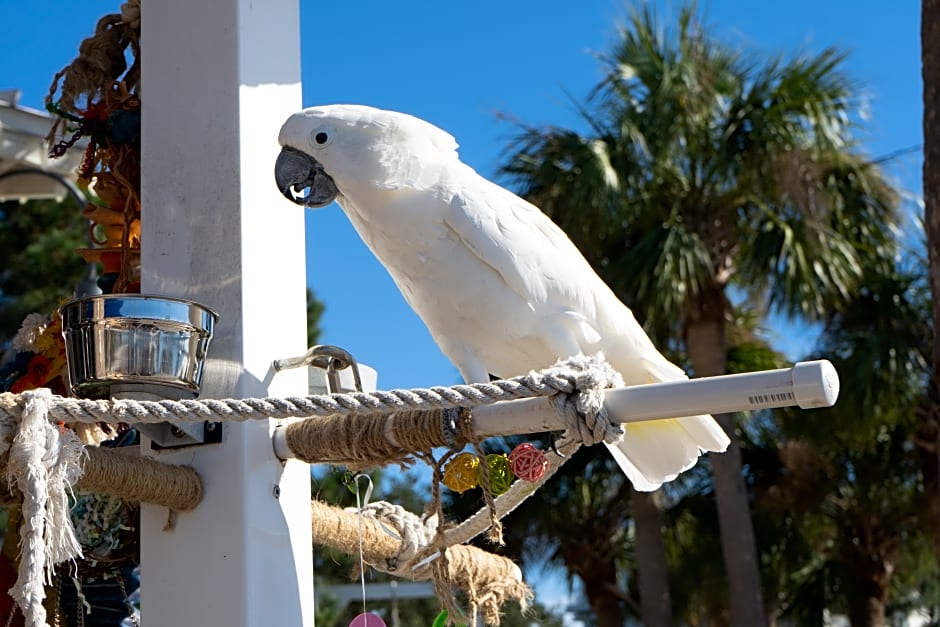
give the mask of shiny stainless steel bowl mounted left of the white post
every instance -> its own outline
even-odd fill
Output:
[[[199,393],[218,314],[198,303],[145,294],[104,294],[59,309],[71,393],[108,398]]]

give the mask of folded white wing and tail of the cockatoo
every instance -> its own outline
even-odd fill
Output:
[[[444,221],[481,263],[526,299],[555,357],[602,350],[628,385],[686,378],[653,347],[557,225],[534,205],[482,181],[453,197]],[[547,365],[520,364],[510,371],[490,366],[490,371],[513,376]],[[624,441],[608,449],[634,487],[649,491],[695,465],[702,452],[724,451],[728,443],[714,419],[703,415],[627,424]]]

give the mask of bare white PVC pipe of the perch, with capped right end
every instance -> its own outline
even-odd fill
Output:
[[[604,392],[611,422],[642,422],[663,418],[753,411],[773,407],[832,407],[839,396],[839,375],[826,360],[803,361],[792,368],[701,377],[668,383],[615,388]],[[478,405],[471,413],[480,437],[560,431],[565,424],[546,398]],[[390,417],[389,420],[394,420]],[[386,436],[394,442],[392,429]],[[285,430],[273,435],[281,459],[294,457]]]

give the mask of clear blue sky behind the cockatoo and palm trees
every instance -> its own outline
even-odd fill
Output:
[[[41,108],[53,74],[119,4],[0,0],[0,89],[18,88],[22,104]],[[653,4],[665,15],[678,6]],[[565,94],[580,98],[598,80],[594,55],[614,41],[627,6],[615,0],[303,0],[304,106],[362,103],[423,117],[457,138],[465,162],[492,176],[513,133],[497,112],[527,123],[579,126]],[[877,157],[920,145],[919,2],[711,0],[700,7],[720,37],[758,54],[830,45],[848,50],[846,68],[869,102],[866,150]],[[919,152],[889,172],[919,195]],[[308,282],[327,305],[322,341],[377,368],[382,388],[457,381],[335,205],[308,212],[307,251]],[[791,353],[806,346],[805,336],[799,327],[778,331]]]

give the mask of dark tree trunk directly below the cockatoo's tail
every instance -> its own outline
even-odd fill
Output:
[[[672,598],[659,496],[659,492],[636,490],[630,496],[636,526],[637,583],[644,627],[672,627]]]

